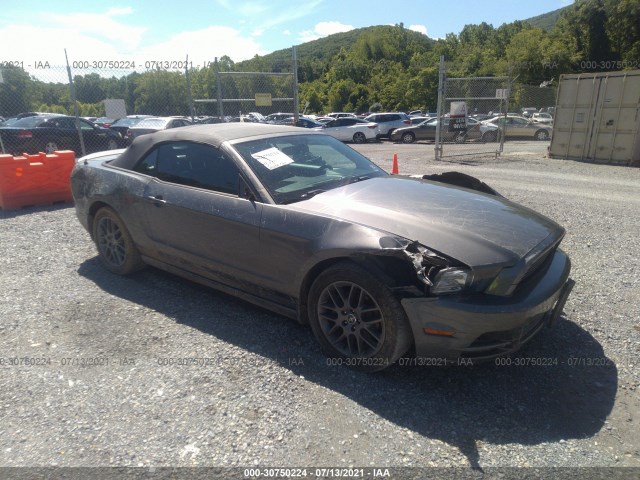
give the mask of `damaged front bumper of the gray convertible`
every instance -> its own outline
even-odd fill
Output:
[[[516,351],[562,313],[574,284],[570,270],[569,258],[558,249],[544,272],[523,282],[510,296],[404,298],[416,356],[456,362]]]

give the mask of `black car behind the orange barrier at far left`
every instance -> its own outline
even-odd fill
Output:
[[[116,132],[94,125],[83,118],[45,114],[23,117],[9,126],[0,127],[0,136],[7,153],[52,153],[55,150],[73,150],[82,155],[80,135],[76,127],[80,123],[85,151],[98,152],[124,146]]]

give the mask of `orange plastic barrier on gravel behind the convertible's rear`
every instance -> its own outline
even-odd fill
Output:
[[[76,155],[70,150],[0,155],[0,207],[9,210],[72,201],[69,176],[75,163]]]

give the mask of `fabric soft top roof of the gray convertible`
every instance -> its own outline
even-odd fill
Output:
[[[313,131],[300,127],[244,122],[171,128],[135,138],[133,143],[122,152],[122,155],[111,162],[111,165],[131,170],[138,163],[140,157],[154,145],[163,142],[191,141],[206,143],[218,148],[220,144],[229,140],[287,133],[309,134],[313,133]]]

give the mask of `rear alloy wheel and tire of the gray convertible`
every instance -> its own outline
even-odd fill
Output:
[[[129,231],[108,207],[100,209],[93,220],[93,240],[100,261],[109,271],[128,275],[144,266]]]

